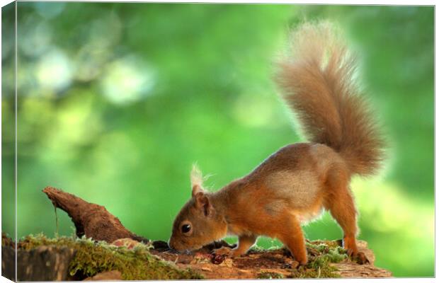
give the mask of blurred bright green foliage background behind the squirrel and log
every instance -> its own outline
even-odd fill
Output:
[[[13,236],[13,10],[3,15],[2,231]],[[18,237],[55,236],[41,192],[52,185],[166,240],[194,161],[217,190],[301,141],[272,76],[288,30],[304,19],[343,28],[389,139],[382,175],[353,180],[359,238],[394,276],[433,276],[428,6],[18,2]],[[67,214],[58,217],[58,233],[74,233]],[[328,214],[304,231],[341,238]]]

